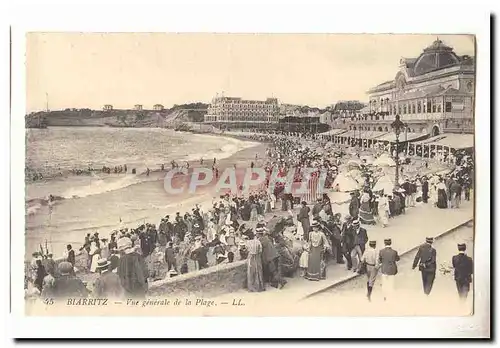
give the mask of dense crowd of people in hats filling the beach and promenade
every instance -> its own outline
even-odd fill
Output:
[[[380,190],[376,183],[384,174],[349,148],[329,148],[313,137],[261,134],[250,138],[269,143],[260,163],[268,174],[278,169],[286,176],[293,170],[300,181],[305,168],[315,168],[313,176],[327,173],[326,186],[333,192],[342,189],[335,185],[337,176],[344,175],[347,163],[356,159],[358,188],[350,190],[348,214],[335,212],[328,194],[310,204],[285,193],[284,184],[269,188],[266,180],[246,196],[239,192],[221,195],[207,211],[195,206],[173,218],[166,215],[158,226],[124,227],[113,231],[109,239],[97,232],[88,234],[78,257],[68,245],[65,261],[57,267],[52,255],[36,253],[27,287],[50,297],[91,293],[144,297],[152,281],[246,260],[249,291],[264,291],[266,286],[281,289],[287,284],[285,278],[296,276],[297,271],[307,280],[325,279],[329,260],[363,272],[369,237],[362,225],[387,226],[416,203],[458,208],[462,193],[466,200],[471,197],[473,161],[465,153],[455,154],[456,165],[445,175],[408,174],[401,185]],[[377,151],[374,157],[384,152]],[[299,206],[297,214],[294,206]],[[94,274],[92,284],[80,279],[88,273]]]

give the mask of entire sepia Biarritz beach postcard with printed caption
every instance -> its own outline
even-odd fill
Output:
[[[475,315],[475,35],[25,38],[26,316]]]

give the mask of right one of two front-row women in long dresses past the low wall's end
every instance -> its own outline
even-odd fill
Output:
[[[314,221],[313,230],[309,233],[309,260],[305,278],[318,281],[326,279],[326,264],[324,260],[325,250],[328,249],[328,240],[323,232],[319,230],[319,223]]]

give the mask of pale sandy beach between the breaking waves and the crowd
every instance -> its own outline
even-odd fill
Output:
[[[190,135],[190,133],[185,133],[185,136]],[[213,137],[221,140],[226,138],[226,136],[218,134],[214,134]],[[258,166],[260,161],[265,158],[267,144],[242,137],[229,137],[250,143],[248,144],[250,146],[227,158],[218,159],[216,166],[220,173],[225,168],[233,168],[234,165],[237,168],[249,168],[252,161]],[[222,141],[221,144],[223,144]],[[196,152],[203,153],[203,150],[196,149]],[[257,161],[255,160],[256,155],[259,158]],[[161,159],[158,162],[161,162]],[[200,166],[212,168],[213,158],[204,158],[203,165],[200,164],[199,159],[188,162],[190,168]],[[180,166],[186,165],[185,161],[177,161],[177,163]],[[164,189],[164,178],[170,169],[170,163],[165,163],[165,171],[163,172],[159,165],[156,168],[151,168],[149,176],[146,176],[145,173],[137,176],[110,174],[109,177],[104,178],[104,181],[134,181],[128,187],[115,189],[104,194],[57,201],[52,209],[52,214],[49,213],[49,209],[45,205],[40,208],[37,215],[27,216],[27,227],[30,225],[35,227],[27,230],[26,233],[26,257],[29,258],[33,251],[39,250],[40,243],[45,245],[45,241],[49,244],[49,249],[54,253],[54,256],[58,257],[65,250],[66,244],[72,244],[74,248],[79,248],[87,233],[97,231],[102,238],[108,238],[113,230],[120,227],[136,228],[145,222],[158,225],[160,219],[165,215],[173,217],[177,211],[184,214],[191,211],[196,204],[207,209],[211,206],[214,197],[219,197],[217,192],[214,192],[213,186],[200,188],[195,193],[167,194]],[[78,190],[75,190],[77,193],[101,189],[91,182],[92,178],[89,176],[70,179],[82,182]],[[67,189],[65,181],[70,179],[47,180],[37,184],[34,188],[27,187],[26,199],[46,197],[49,194],[61,195]],[[36,191],[34,191],[35,189]],[[123,207],[120,208],[121,206]],[[87,223],[78,223],[82,214],[87,214]],[[60,221],[60,223],[56,224],[55,221]]]

